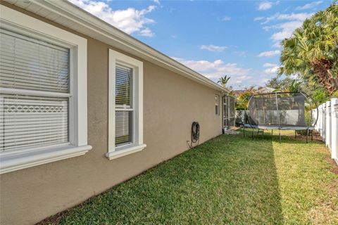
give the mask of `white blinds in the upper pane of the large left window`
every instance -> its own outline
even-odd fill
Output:
[[[1,86],[68,92],[69,49],[1,29]]]

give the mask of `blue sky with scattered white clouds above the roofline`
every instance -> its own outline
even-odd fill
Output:
[[[68,0],[217,82],[263,86],[277,75],[280,41],[332,1]]]

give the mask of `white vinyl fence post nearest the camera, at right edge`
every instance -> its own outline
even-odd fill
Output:
[[[338,164],[338,98],[331,98],[331,158]]]

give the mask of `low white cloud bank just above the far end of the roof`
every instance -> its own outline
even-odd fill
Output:
[[[191,68],[192,70],[201,73],[201,75],[212,79],[215,82],[224,75],[230,75],[230,77],[232,77],[229,81],[230,85],[241,84],[247,79],[252,78],[251,76],[249,76],[251,68],[240,68],[236,63],[225,63],[223,62],[223,60],[220,59],[215,61],[187,60],[175,57],[173,57],[173,59],[179,61],[183,65],[186,65],[188,68]]]

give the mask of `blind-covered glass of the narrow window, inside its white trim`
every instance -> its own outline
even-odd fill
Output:
[[[115,146],[132,143],[132,72],[115,66]]]

